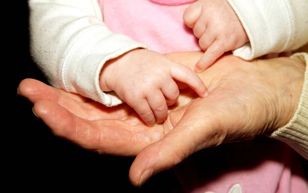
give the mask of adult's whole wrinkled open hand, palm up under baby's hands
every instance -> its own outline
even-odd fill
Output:
[[[194,68],[202,54],[165,56]],[[223,55],[199,74],[210,94],[198,98],[191,89],[182,90],[166,121],[153,127],[126,104],[106,108],[33,79],[18,89],[54,135],[100,154],[137,156],[129,178],[140,186],[200,149],[253,139],[285,125],[297,109],[304,71],[305,65],[291,58],[248,62]]]

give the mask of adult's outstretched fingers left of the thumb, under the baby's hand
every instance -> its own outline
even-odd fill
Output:
[[[108,108],[38,80],[23,80],[18,93],[34,103],[33,113],[54,135],[99,154],[136,156],[167,133],[162,125],[148,127],[127,104]]]

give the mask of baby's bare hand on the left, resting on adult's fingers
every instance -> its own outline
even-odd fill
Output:
[[[157,52],[132,50],[105,64],[100,86],[115,91],[149,125],[163,122],[168,105],[179,97],[175,80],[186,83],[200,97],[208,91],[199,76],[188,67],[173,62]]]

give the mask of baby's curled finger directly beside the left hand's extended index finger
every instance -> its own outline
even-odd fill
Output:
[[[165,96],[168,106],[176,103],[180,95],[178,84],[172,79],[163,85],[161,91]]]

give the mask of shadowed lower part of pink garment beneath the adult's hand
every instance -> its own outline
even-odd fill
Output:
[[[185,192],[306,193],[299,156],[286,144],[259,137],[204,149],[175,167]]]

